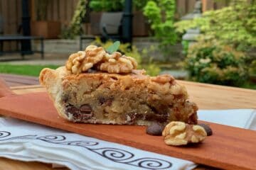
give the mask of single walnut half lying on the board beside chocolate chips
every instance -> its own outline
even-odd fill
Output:
[[[200,125],[188,125],[183,122],[171,122],[162,132],[166,145],[187,145],[202,142],[207,134]]]

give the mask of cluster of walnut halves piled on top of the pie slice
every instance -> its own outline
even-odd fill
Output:
[[[66,69],[73,74],[87,72],[94,67],[97,71],[109,73],[130,73],[137,69],[137,62],[132,57],[122,55],[120,52],[108,54],[103,47],[89,45],[85,51],[70,55],[66,62]]]

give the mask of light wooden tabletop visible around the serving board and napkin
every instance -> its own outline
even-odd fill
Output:
[[[216,86],[211,84],[199,84],[189,81],[179,81],[186,86],[191,101],[198,104],[199,109],[231,109],[231,108],[254,108],[256,109],[256,91],[240,89],[229,86]],[[15,86],[11,89],[16,94],[46,91],[39,85]],[[0,158],[0,170],[2,169],[52,169],[48,164],[38,162],[19,162],[11,159]],[[196,169],[208,169],[199,166]],[[213,168],[210,168],[213,169]]]

